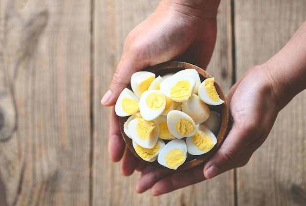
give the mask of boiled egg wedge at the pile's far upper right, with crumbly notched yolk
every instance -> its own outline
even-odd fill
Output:
[[[206,104],[220,105],[224,101],[220,99],[219,94],[216,91],[214,82],[215,82],[214,77],[205,79],[198,87],[198,96]]]

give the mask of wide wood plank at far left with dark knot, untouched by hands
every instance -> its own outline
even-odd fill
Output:
[[[90,2],[8,2],[1,72],[17,118],[0,141],[7,205],[89,205]]]

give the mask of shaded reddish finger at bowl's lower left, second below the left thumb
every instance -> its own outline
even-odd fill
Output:
[[[131,150],[126,147],[121,163],[121,173],[125,176],[130,176],[137,167],[138,161]]]

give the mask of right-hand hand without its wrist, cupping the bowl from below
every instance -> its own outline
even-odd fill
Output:
[[[281,107],[274,96],[269,75],[262,66],[251,68],[231,88],[227,101],[232,128],[219,150],[204,166],[177,172],[146,166],[141,171],[136,190],[144,192],[152,188],[153,195],[160,195],[244,166],[268,136]]]

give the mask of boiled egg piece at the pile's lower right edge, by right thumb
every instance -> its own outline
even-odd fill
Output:
[[[187,151],[192,155],[202,155],[217,144],[215,134],[204,125],[197,125],[197,133],[186,138]]]

